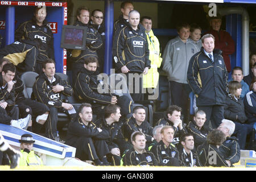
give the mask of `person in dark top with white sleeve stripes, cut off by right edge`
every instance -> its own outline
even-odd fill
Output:
[[[254,63],[255,65],[256,63]],[[256,65],[254,66],[256,71]],[[250,84],[250,92],[246,94],[245,100],[243,103],[245,104],[245,114],[248,118],[247,123],[250,125],[254,125],[255,129],[255,123],[256,123],[256,77],[251,80]]]

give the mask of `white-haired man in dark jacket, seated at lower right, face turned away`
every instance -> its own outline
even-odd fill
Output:
[[[220,126],[218,126],[218,130],[221,130],[225,134],[226,140],[222,143],[219,150],[224,155],[224,159],[230,167],[240,160],[240,146],[237,142],[238,139],[236,137],[231,137],[236,125],[233,121],[228,119],[222,119],[221,122]]]

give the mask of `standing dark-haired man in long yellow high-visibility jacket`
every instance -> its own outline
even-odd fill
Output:
[[[149,59],[151,60],[151,68],[148,70],[147,75],[143,75],[143,88],[155,89],[159,80],[158,68],[160,68],[162,63],[162,57],[160,57],[160,44],[158,38],[156,38],[152,31],[152,18],[143,16],[141,18],[141,24],[146,29],[148,49],[150,50]],[[147,90],[146,93],[153,94],[151,90]],[[145,97],[145,99],[147,100],[148,98]]]

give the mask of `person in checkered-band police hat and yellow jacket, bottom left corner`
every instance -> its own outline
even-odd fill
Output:
[[[32,150],[33,143],[35,143],[32,135],[23,134],[19,142],[20,152],[22,153],[19,166],[43,166],[42,159]]]

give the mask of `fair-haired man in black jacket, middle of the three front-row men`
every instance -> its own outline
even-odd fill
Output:
[[[164,126],[161,129],[161,138],[162,140],[151,148],[159,166],[180,166],[179,151],[172,144],[174,128],[172,126]]]

